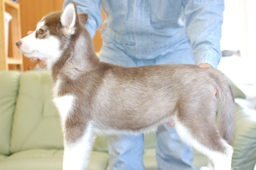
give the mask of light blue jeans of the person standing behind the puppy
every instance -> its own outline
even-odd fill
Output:
[[[151,57],[149,60],[135,58],[122,45],[103,42],[100,58],[102,61],[127,67],[154,64],[195,64],[189,42],[183,43],[171,51],[159,51],[159,55],[153,59]],[[108,170],[145,169],[143,165],[143,134],[109,136],[108,151]],[[171,128],[169,124],[164,124],[158,128],[156,146],[158,169],[195,170],[192,165],[193,158],[193,149],[180,140],[175,126]]]

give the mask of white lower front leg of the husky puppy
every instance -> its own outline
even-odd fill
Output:
[[[92,132],[92,123],[88,123],[85,126],[82,131],[83,135],[75,140],[72,139],[74,133],[77,133],[77,131],[81,132],[81,129],[78,129],[77,125],[66,128],[64,135],[63,170],[86,169],[89,165],[94,135]]]

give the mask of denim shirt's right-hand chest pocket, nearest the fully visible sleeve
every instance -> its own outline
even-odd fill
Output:
[[[174,22],[180,17],[182,3],[177,0],[151,0],[151,19],[155,22]]]

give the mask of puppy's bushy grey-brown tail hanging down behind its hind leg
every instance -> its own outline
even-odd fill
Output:
[[[220,83],[220,80],[224,78],[225,80],[222,80]],[[234,96],[225,75],[218,77],[215,81],[218,90],[219,133],[222,139],[230,144],[235,136],[236,114]]]

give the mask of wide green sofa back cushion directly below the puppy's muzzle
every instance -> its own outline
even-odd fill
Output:
[[[27,71],[20,78],[13,117],[11,153],[35,148],[63,148],[49,72]]]

